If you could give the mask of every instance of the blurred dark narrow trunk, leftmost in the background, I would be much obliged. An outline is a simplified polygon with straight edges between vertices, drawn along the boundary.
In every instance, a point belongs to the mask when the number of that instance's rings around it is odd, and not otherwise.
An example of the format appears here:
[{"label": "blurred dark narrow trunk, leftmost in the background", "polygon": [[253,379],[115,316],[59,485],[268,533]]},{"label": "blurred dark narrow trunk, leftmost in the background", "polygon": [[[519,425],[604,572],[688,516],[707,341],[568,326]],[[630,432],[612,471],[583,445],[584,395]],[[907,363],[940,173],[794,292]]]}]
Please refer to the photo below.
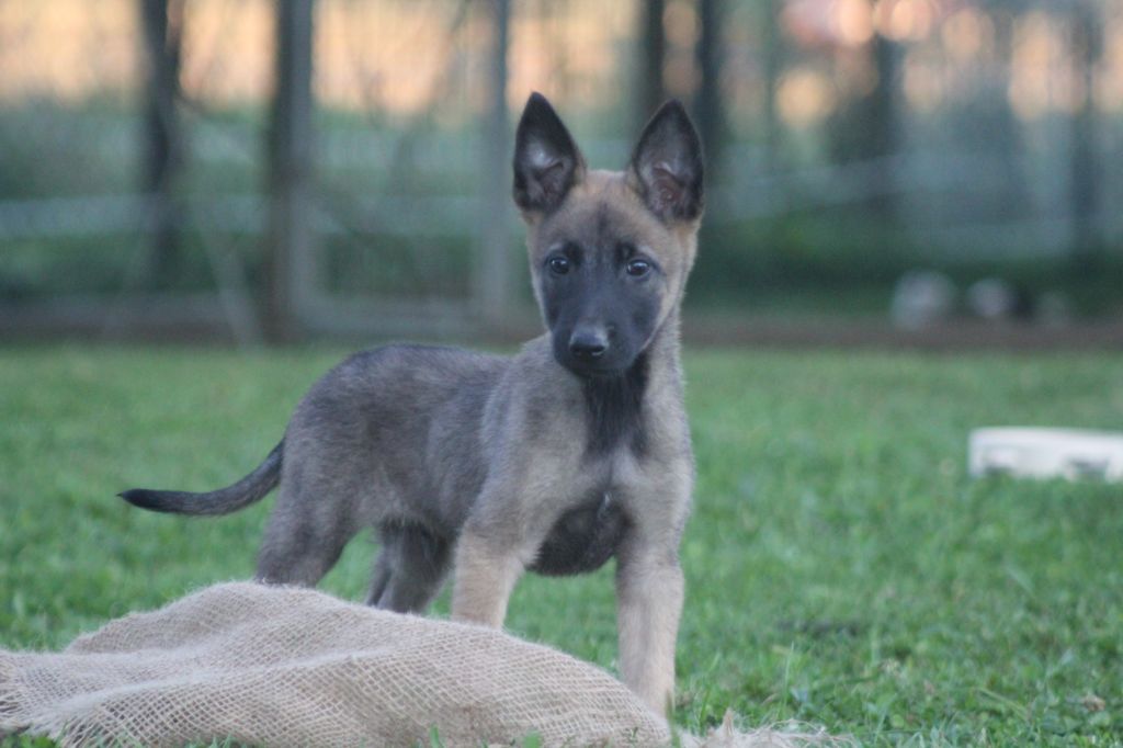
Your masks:
[{"label": "blurred dark narrow trunk, leftmost in the background", "polygon": [[179,270],[179,209],[175,182],[183,146],[175,102],[180,95],[183,6],[177,0],[140,0],[148,80],[145,102],[144,191],[149,199],[150,241],[145,279],[167,289]]}]

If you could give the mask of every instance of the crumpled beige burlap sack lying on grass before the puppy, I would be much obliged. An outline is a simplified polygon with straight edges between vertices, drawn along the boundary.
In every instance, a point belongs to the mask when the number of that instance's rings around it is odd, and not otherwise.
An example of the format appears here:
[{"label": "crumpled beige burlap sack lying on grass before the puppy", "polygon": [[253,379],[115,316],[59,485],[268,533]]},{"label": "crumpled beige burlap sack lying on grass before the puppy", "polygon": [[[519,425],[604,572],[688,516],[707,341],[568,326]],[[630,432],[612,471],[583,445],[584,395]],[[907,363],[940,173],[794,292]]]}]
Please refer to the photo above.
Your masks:
[{"label": "crumpled beige burlap sack lying on grass before the puppy", "polygon": [[[58,654],[0,653],[0,735],[63,745],[667,745],[606,673],[487,628],[221,584]],[[713,745],[789,745],[727,729]],[[688,736],[683,742],[694,742]]]}]

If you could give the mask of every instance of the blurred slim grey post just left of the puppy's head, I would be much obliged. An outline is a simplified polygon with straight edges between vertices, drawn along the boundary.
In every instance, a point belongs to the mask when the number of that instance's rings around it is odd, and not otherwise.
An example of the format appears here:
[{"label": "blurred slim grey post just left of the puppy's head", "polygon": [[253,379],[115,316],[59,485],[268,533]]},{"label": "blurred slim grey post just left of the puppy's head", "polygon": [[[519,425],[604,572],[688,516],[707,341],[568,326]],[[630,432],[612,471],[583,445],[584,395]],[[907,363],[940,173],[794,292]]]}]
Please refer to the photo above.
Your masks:
[{"label": "blurred slim grey post just left of the puppy's head", "polygon": [[506,110],[506,53],[511,36],[510,0],[491,0],[492,49],[487,79],[487,111],[481,133],[483,206],[477,236],[476,297],[484,321],[496,327],[508,312],[511,241],[504,217],[510,210],[510,122]]}]

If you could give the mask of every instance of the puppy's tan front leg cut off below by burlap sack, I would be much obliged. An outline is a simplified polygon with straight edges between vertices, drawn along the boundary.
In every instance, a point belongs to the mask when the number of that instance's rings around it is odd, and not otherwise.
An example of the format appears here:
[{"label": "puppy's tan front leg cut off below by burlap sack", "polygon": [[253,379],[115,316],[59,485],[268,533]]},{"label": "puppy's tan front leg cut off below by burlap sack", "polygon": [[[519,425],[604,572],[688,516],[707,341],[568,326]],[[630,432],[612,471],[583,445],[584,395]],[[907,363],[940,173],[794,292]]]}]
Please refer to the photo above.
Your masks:
[{"label": "puppy's tan front leg cut off below by burlap sack", "polygon": [[522,574],[518,550],[494,536],[465,528],[456,546],[453,618],[500,628],[506,602]]}]

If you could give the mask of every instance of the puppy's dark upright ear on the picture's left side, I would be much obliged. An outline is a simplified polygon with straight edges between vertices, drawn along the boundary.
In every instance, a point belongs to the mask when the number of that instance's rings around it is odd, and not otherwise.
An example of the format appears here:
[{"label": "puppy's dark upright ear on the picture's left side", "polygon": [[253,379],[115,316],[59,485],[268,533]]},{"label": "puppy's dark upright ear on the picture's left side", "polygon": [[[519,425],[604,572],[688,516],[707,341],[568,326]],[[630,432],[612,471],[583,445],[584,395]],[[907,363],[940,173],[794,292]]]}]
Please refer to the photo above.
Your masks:
[{"label": "puppy's dark upright ear on the picture's left side", "polygon": [[523,213],[548,213],[585,174],[585,159],[546,97],[527,101],[514,136],[514,202]]}]

